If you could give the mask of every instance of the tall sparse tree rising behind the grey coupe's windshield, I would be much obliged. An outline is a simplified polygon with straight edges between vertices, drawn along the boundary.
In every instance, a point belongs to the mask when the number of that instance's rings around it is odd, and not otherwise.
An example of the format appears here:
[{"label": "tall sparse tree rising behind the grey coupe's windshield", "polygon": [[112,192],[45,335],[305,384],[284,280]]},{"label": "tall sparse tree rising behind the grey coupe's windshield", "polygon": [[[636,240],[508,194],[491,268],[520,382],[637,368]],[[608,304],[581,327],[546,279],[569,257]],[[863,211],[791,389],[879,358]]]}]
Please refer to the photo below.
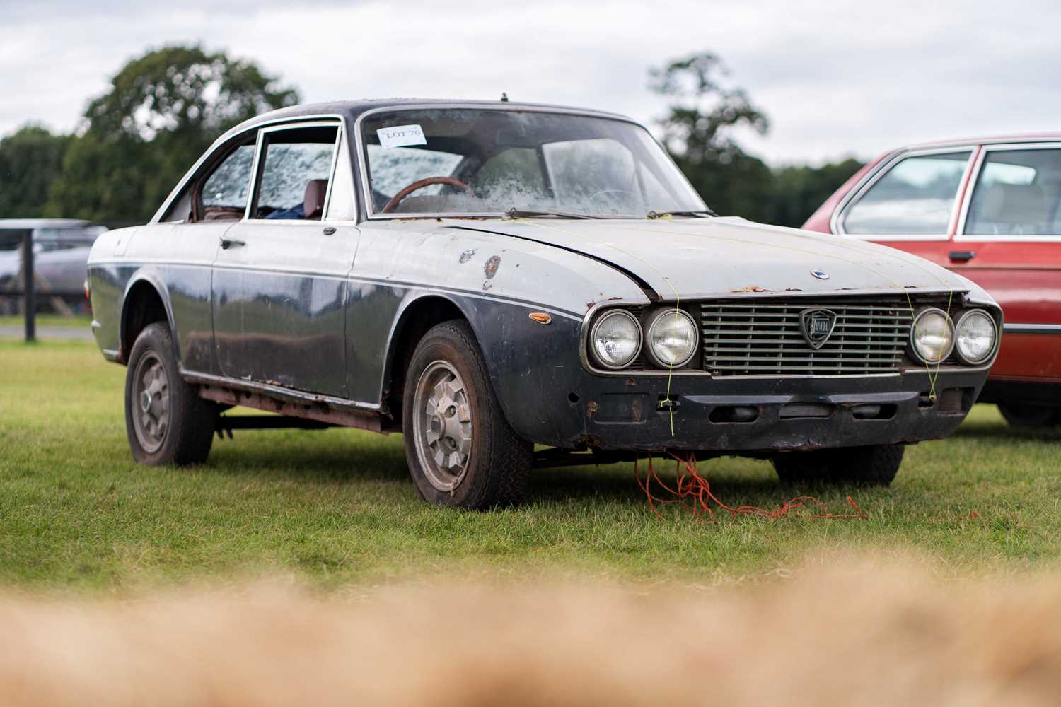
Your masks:
[{"label": "tall sparse tree rising behind the grey coupe's windshield", "polygon": [[744,90],[727,85],[725,65],[701,53],[649,71],[650,87],[671,105],[660,121],[663,144],[705,201],[720,214],[770,217],[770,169],[744,152],[736,128],[769,129]]}]

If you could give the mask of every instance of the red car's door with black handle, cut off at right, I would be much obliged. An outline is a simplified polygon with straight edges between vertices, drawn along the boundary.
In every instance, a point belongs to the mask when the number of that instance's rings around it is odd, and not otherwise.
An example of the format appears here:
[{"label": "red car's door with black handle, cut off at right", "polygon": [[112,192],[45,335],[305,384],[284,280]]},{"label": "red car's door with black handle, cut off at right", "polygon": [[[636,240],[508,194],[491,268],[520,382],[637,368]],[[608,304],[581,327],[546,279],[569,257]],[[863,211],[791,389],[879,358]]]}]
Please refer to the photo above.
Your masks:
[{"label": "red car's door with black handle, cut off at right", "polygon": [[984,145],[974,177],[950,266],[1003,307],[992,377],[1061,382],[1061,143]]}]

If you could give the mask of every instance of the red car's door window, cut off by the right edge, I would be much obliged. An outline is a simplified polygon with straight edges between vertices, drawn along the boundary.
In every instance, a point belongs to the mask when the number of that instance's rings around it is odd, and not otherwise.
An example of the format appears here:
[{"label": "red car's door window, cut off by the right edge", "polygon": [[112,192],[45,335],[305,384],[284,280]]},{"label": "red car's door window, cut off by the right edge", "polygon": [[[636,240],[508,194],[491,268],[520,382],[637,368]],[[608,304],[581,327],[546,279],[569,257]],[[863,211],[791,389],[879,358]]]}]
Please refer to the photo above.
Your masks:
[{"label": "red car's door window, cut off by the right edge", "polygon": [[992,149],[984,158],[967,234],[1061,235],[1061,149]]}]

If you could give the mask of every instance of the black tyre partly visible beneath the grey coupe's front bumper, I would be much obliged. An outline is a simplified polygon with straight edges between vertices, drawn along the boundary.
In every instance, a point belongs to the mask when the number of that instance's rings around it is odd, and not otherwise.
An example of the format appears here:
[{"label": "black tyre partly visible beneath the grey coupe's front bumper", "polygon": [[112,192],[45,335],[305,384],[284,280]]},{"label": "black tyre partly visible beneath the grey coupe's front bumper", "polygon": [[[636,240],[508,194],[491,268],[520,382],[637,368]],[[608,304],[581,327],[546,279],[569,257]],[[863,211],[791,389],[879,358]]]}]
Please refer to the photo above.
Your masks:
[{"label": "black tyre partly visible beneath the grey coupe's front bumper", "polygon": [[773,458],[783,483],[890,485],[903,463],[903,444],[790,452]]}]

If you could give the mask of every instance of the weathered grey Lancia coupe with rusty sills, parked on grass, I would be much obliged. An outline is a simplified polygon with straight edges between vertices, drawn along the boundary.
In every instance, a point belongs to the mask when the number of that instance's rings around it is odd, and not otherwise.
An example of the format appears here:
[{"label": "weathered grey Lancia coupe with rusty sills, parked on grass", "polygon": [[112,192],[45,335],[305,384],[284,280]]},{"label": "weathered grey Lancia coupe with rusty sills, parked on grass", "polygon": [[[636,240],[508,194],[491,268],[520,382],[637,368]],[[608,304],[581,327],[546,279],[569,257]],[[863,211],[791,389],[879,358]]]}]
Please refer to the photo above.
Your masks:
[{"label": "weathered grey Lancia coupe with rusty sills, parked on grass", "polygon": [[476,509],[536,465],[663,452],[887,484],[969,412],[1002,324],[914,255],[716,216],[627,118],[508,102],[247,121],[99,237],[89,287],[137,461],[403,431],[423,497]]}]

